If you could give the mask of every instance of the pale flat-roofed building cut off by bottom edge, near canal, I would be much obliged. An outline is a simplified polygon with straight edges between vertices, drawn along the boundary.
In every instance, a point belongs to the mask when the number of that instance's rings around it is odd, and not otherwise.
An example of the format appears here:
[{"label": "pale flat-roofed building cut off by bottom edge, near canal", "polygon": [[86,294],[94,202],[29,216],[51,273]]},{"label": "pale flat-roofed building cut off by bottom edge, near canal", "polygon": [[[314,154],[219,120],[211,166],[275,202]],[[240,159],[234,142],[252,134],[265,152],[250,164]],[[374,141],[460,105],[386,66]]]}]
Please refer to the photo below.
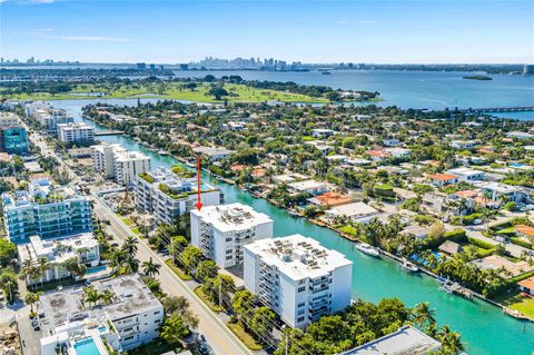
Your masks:
[{"label": "pale flat-roofed building cut off by bottom edge, near canal", "polygon": [[416,327],[405,325],[398,331],[378,339],[370,341],[339,355],[386,355],[386,354],[432,354],[442,348],[442,344]]}]

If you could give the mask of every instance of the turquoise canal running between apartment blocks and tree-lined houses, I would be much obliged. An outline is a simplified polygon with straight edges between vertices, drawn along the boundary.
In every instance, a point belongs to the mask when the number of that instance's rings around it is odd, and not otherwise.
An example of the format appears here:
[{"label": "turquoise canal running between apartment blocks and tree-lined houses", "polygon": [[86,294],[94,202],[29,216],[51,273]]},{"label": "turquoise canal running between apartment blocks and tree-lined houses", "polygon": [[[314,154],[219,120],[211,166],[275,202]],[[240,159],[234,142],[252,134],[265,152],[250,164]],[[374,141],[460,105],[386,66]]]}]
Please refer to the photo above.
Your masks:
[{"label": "turquoise canal running between apartment blocks and tree-lined houses", "polygon": [[[135,105],[137,100],[100,100],[115,105]],[[148,101],[148,100],[141,100]],[[53,106],[66,109],[81,118],[81,107],[92,100],[55,101]],[[95,126],[92,121],[85,120]],[[97,125],[97,129],[103,129]],[[139,150],[151,158],[152,169],[169,167],[177,162],[169,156],[160,156],[138,145],[125,136],[106,136],[99,139],[121,144],[128,150]],[[316,226],[304,218],[295,218],[286,210],[277,208],[264,199],[258,199],[238,188],[220,181],[214,181],[225,194],[227,203],[238,201],[269,215],[275,221],[275,235],[285,236],[299,233],[319,240],[327,248],[336,249],[354,262],[353,297],[369,302],[379,302],[384,297],[398,297],[413,306],[421,302],[429,302],[436,308],[438,324],[448,324],[462,333],[468,354],[475,355],[531,355],[534,352],[534,324],[521,322],[506,316],[497,307],[482,300],[467,300],[438,290],[439,284],[425,275],[412,275],[387,259],[375,259],[360,254],[353,243],[339,237],[335,231]]]}]

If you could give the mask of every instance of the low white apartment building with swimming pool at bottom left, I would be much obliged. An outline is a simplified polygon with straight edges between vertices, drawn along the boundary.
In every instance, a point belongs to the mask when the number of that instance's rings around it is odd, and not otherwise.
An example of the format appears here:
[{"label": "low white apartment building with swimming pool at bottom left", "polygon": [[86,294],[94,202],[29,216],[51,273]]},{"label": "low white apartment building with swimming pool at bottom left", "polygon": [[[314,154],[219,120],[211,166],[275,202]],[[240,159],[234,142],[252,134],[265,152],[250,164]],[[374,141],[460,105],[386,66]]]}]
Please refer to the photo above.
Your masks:
[{"label": "low white apartment building with swimming pool at bottom left", "polygon": [[121,353],[150,343],[159,336],[164,306],[139,275],[93,282],[91,286],[99,294],[111,292],[111,302],[99,305],[83,302],[81,286],[47,293],[40,297],[38,309],[43,355],[57,354],[55,349],[58,345],[73,351],[68,354],[80,354],[76,349],[89,345],[98,348],[99,354],[108,354],[107,351],[101,352],[103,341]]}]

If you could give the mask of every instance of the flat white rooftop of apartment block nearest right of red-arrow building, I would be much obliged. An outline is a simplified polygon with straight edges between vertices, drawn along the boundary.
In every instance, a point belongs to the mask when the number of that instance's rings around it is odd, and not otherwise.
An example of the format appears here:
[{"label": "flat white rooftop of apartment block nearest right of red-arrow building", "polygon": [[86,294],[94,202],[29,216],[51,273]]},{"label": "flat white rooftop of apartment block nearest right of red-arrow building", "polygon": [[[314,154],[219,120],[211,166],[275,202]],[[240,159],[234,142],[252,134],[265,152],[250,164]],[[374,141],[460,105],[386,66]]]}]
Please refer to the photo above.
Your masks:
[{"label": "flat white rooftop of apartment block nearest right of red-arrow building", "polygon": [[296,280],[322,277],[353,264],[339,252],[327,249],[319,241],[299,234],[257,240],[245,248]]}]

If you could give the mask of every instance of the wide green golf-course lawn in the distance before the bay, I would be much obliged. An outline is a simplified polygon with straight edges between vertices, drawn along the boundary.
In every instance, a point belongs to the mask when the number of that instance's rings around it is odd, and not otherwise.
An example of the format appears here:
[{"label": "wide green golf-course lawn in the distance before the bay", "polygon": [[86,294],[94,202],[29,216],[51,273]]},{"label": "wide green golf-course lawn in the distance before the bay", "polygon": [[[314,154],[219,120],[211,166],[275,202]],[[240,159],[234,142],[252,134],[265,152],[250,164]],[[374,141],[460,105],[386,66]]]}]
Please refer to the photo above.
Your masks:
[{"label": "wide green golf-course lawn in the distance before the bay", "polygon": [[[70,92],[61,92],[58,95],[50,95],[48,92],[34,92],[31,95],[21,93],[9,96],[12,99],[33,99],[33,100],[73,100],[73,99],[95,99],[95,98],[162,98],[177,99],[199,102],[221,102],[222,100],[215,100],[215,98],[207,92],[209,91],[208,83],[199,85],[195,90],[182,89],[179,82],[167,82],[165,88],[158,85],[142,85],[132,83],[129,86],[120,86],[110,89],[100,85],[79,85]],[[225,83],[224,88],[230,96],[226,97],[228,101],[233,102],[263,102],[263,101],[283,101],[283,102],[328,102],[324,98],[314,98],[307,95],[299,95],[286,91],[276,91],[267,89],[257,89],[239,83]],[[90,95],[91,92],[103,92],[102,96]],[[159,93],[161,92],[161,93]],[[1,91],[0,91],[1,95]]]}]

